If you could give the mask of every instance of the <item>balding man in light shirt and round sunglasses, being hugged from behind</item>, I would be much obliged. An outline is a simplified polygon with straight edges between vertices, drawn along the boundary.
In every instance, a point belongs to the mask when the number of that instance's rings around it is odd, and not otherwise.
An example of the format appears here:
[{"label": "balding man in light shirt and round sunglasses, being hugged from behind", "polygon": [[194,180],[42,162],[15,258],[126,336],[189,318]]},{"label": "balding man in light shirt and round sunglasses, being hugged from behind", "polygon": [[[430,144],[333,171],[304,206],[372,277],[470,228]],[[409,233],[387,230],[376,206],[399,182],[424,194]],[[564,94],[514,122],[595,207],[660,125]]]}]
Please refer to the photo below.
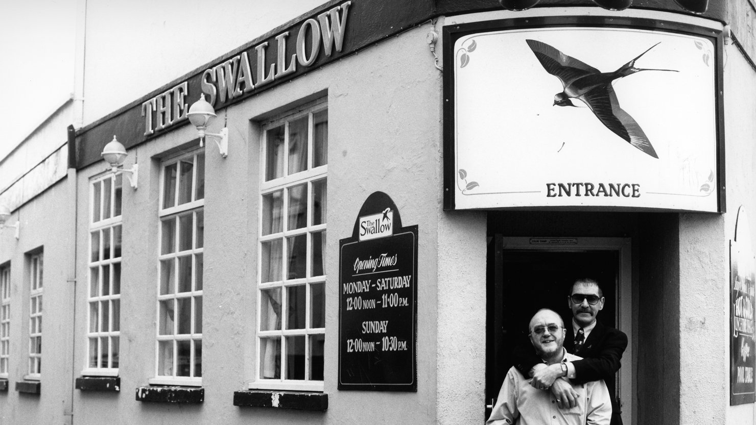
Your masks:
[{"label": "balding man in light shirt and round sunglasses, being hugged from behind", "polygon": [[[548,367],[560,368],[565,362],[580,360],[563,348],[567,331],[553,310],[538,310],[528,329],[535,352]],[[612,402],[603,380],[568,383],[575,397],[572,408],[557,407],[556,396],[532,387],[529,381],[516,368],[510,368],[486,425],[609,425]]]}]

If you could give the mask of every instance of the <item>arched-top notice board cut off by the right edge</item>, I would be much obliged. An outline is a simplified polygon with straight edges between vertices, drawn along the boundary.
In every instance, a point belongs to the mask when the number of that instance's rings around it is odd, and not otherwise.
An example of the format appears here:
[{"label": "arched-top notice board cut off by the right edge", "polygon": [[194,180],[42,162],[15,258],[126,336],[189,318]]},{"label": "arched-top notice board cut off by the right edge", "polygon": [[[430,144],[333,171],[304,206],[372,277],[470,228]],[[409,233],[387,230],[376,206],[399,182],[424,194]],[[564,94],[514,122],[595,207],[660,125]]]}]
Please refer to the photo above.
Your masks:
[{"label": "arched-top notice board cut off by the right edge", "polygon": [[736,239],[730,241],[730,405],[756,401],[756,258],[746,217],[741,206]]}]

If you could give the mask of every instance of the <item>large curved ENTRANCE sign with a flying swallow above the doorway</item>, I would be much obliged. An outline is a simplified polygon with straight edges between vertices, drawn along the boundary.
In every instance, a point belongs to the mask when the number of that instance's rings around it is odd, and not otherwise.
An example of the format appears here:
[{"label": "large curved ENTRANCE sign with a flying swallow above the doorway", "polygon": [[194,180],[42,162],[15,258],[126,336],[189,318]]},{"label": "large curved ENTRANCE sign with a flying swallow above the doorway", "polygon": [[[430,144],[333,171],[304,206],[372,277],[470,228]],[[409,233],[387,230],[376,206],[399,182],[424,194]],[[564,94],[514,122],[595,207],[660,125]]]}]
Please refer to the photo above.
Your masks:
[{"label": "large curved ENTRANCE sign with a flying swallow above the doorway", "polygon": [[712,30],[507,22],[445,29],[447,209],[723,211]]}]

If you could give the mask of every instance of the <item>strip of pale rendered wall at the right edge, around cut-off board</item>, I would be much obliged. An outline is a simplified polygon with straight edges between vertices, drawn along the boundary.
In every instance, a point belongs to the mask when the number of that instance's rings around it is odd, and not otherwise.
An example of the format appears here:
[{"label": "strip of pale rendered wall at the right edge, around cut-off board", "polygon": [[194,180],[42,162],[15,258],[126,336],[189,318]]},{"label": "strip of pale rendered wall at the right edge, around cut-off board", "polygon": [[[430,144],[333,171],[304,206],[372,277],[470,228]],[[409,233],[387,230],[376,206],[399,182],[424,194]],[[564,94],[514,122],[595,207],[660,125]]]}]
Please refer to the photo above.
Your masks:
[{"label": "strip of pale rendered wall at the right edge, around cut-off board", "polygon": [[[753,16],[751,12],[751,16]],[[750,34],[750,33],[749,33]],[[738,38],[741,35],[737,35]],[[727,46],[725,57],[725,137],[727,138],[727,214],[723,215],[723,236],[725,244],[721,249],[724,252],[725,279],[721,288],[723,306],[730,305],[730,255],[729,241],[735,237],[736,219],[740,205],[745,207],[748,220],[751,223],[751,243],[756,244],[756,186],[754,186],[754,173],[756,173],[756,147],[754,147],[754,134],[756,134],[756,122],[754,122],[754,110],[756,100],[756,72],[742,57],[736,46]],[[756,246],[751,245],[756,250]],[[725,308],[720,312],[726,321],[727,331],[730,327],[730,310]],[[730,339],[723,341],[723,380],[726,398],[722,404],[730,406]],[[756,405],[737,405],[726,408],[727,423],[732,425],[748,425],[756,423]]]}]

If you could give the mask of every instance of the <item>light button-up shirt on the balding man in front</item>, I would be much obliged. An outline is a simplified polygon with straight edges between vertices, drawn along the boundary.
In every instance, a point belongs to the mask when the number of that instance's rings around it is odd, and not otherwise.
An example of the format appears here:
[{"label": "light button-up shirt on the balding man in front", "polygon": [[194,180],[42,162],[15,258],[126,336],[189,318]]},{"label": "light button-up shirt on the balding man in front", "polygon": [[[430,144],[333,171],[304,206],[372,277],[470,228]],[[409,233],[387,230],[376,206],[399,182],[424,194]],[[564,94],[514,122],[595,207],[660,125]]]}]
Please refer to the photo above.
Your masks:
[{"label": "light button-up shirt on the balding man in front", "polygon": [[[562,351],[562,362],[581,359]],[[510,368],[486,425],[609,425],[612,420],[612,399],[603,380],[572,383],[572,389],[578,393],[578,404],[560,409],[551,391],[536,390],[530,385],[531,379]]]}]

